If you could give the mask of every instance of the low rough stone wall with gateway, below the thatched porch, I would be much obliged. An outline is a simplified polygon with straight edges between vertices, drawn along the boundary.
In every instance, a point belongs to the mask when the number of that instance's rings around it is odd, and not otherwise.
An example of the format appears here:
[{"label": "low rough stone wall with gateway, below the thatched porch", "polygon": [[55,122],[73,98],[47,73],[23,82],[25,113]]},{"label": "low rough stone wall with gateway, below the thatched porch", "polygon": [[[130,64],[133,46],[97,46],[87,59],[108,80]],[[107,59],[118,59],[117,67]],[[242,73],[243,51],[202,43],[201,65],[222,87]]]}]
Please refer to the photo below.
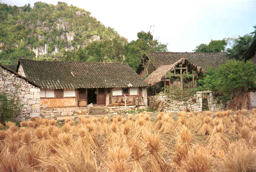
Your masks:
[{"label": "low rough stone wall with gateway, below the thatched porch", "polygon": [[[201,112],[205,109],[203,106],[203,100],[208,105],[208,110],[210,111],[218,111],[218,110],[225,110],[227,107],[227,102],[223,100],[217,100],[213,97],[212,92],[210,91],[202,91],[196,92],[193,95],[193,98],[190,98],[187,101],[180,101],[174,100],[169,95],[156,95],[156,96],[149,96],[149,106],[152,106],[155,101],[165,100],[166,103],[164,105],[165,112],[179,112],[179,111],[198,111]],[[206,101],[207,100],[207,101]]]}]

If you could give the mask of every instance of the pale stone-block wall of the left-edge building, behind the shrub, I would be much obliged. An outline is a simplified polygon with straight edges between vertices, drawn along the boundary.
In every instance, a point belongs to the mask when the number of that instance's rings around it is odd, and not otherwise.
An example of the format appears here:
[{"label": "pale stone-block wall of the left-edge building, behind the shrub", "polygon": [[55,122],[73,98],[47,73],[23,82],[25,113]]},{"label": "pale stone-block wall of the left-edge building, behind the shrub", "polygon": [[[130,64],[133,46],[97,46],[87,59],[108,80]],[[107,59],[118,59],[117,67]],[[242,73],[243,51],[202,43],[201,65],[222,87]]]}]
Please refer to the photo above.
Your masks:
[{"label": "pale stone-block wall of the left-edge building, behind the shrub", "polygon": [[40,112],[40,89],[29,83],[15,72],[10,72],[0,66],[0,90],[13,94],[17,92],[23,108],[18,115],[19,120],[39,117]]}]

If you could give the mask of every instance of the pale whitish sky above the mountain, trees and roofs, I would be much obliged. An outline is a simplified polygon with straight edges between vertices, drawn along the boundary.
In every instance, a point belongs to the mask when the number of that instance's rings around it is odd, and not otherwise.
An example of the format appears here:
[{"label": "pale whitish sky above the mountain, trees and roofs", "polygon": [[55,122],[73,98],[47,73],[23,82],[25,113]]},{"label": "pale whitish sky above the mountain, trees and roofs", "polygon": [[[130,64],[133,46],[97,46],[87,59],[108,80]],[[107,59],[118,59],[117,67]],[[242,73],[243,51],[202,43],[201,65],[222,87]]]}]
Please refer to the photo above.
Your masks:
[{"label": "pale whitish sky above the mountain, trees and roofs", "polygon": [[[38,0],[0,0],[32,6]],[[56,5],[62,0],[41,0]],[[170,52],[192,52],[197,45],[253,32],[256,0],[64,0],[90,11],[102,24],[128,41],[152,26],[154,37]],[[154,27],[153,27],[154,26]]]}]

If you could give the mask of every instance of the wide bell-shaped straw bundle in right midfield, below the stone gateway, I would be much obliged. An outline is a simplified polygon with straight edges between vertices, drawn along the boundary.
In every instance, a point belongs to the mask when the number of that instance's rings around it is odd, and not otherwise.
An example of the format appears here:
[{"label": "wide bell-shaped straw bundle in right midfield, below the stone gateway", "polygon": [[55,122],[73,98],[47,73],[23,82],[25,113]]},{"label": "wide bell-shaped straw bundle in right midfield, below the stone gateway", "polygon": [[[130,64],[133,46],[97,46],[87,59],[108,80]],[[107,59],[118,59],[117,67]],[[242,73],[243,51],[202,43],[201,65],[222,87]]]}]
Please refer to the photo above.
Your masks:
[{"label": "wide bell-shaped straw bundle in right midfield, below the stone gateway", "polygon": [[214,151],[227,150],[229,145],[228,138],[224,135],[224,127],[222,124],[219,124],[216,127],[216,132],[214,135],[211,135],[209,138],[208,148]]}]

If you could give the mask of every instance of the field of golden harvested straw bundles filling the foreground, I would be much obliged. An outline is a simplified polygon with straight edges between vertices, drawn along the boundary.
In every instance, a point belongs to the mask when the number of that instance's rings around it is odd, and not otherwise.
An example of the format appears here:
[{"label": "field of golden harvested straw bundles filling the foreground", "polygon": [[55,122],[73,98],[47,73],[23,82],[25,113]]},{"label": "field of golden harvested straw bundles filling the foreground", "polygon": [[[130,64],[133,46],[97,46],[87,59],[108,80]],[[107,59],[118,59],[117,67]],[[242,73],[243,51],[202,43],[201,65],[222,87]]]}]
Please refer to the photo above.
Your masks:
[{"label": "field of golden harvested straw bundles filling the foreground", "polygon": [[0,171],[255,171],[256,109],[33,118],[0,130]]}]

